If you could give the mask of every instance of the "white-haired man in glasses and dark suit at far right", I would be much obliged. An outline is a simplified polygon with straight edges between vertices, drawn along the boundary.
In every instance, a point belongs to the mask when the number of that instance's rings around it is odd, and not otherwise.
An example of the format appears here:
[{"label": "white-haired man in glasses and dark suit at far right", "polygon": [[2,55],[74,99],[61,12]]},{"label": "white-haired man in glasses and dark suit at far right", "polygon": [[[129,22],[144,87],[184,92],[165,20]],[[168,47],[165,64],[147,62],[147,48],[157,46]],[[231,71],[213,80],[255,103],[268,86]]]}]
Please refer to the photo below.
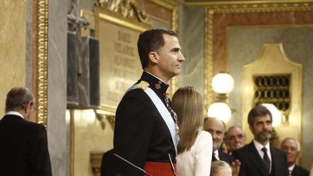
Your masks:
[{"label": "white-haired man in glasses and dark suit at far right", "polygon": [[288,170],[291,176],[309,176],[310,172],[308,170],[295,164],[300,154],[300,144],[296,139],[286,137],[281,141],[280,149],[287,154]]}]

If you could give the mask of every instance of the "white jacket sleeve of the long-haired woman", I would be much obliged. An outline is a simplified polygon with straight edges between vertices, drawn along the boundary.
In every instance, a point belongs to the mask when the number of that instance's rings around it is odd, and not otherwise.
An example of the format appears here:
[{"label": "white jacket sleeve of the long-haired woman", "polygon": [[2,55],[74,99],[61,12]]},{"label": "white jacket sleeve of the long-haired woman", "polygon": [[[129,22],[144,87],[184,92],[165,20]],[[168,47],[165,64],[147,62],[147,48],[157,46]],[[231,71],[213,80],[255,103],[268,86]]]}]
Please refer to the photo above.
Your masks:
[{"label": "white jacket sleeve of the long-haired woman", "polygon": [[203,132],[196,148],[194,176],[210,175],[212,150],[212,136],[209,132]]}]

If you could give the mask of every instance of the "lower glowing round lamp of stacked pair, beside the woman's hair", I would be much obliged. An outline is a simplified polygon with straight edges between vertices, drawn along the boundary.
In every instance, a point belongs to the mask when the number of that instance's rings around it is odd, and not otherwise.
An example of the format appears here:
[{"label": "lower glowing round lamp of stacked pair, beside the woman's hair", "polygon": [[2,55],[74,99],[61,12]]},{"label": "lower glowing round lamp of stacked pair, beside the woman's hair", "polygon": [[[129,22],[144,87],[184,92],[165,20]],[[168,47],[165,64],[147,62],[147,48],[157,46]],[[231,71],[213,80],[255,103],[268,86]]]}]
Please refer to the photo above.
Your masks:
[{"label": "lower glowing round lamp of stacked pair, beside the woman's hair", "polygon": [[216,117],[224,121],[224,123],[228,122],[231,116],[231,110],[226,103],[217,102],[213,103],[209,109],[207,110],[208,117]]}]

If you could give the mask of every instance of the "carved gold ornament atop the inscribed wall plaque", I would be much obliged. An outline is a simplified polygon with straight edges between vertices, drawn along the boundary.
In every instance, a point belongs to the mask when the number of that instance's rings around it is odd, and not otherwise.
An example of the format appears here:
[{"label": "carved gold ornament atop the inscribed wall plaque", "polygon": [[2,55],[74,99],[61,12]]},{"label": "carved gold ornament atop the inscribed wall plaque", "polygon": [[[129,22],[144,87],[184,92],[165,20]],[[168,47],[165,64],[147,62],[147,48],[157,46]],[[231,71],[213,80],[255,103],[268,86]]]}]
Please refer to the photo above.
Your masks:
[{"label": "carved gold ornament atop the inscribed wall plaque", "polygon": [[97,0],[94,5],[101,9],[109,10],[124,18],[150,25],[147,14],[138,9],[135,0]]}]

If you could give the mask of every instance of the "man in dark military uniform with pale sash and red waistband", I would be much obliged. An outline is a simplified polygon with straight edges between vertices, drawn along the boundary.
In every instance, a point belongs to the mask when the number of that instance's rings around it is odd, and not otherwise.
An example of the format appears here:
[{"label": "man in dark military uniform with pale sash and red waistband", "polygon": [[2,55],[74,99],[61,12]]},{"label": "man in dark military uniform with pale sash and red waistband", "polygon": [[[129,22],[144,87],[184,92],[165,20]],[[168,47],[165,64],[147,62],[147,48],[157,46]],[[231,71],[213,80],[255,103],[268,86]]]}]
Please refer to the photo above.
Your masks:
[{"label": "man in dark military uniform with pale sash and red waistband", "polygon": [[[137,46],[144,71],[117,107],[114,150],[153,176],[173,176],[170,163],[176,167],[179,129],[166,90],[168,81],[179,74],[180,63],[185,59],[172,30],[149,29],[140,34]],[[119,159],[116,173],[142,176]]]}]

